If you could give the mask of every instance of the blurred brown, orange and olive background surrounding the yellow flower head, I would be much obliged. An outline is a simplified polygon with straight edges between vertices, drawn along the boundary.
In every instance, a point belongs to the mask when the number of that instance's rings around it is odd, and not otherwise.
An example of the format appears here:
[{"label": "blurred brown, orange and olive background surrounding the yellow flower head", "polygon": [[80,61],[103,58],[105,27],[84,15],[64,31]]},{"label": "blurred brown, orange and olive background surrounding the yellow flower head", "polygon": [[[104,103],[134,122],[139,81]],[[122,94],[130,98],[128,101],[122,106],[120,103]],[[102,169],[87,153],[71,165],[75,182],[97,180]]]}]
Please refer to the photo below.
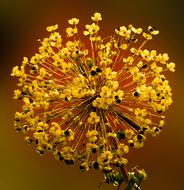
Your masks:
[{"label": "blurred brown, orange and olive background surrounding the yellow flower head", "polygon": [[[32,56],[37,39],[46,35],[45,27],[58,23],[64,33],[67,20],[90,21],[99,11],[103,16],[101,33],[111,34],[120,25],[146,28],[157,26],[160,35],[150,47],[167,52],[176,63],[168,74],[174,103],[167,113],[167,128],[159,137],[148,139],[141,150],[129,154],[129,167],[138,164],[148,174],[145,190],[181,190],[184,180],[184,10],[181,0],[0,0],[0,189],[2,190],[96,190],[103,179],[99,172],[80,172],[47,154],[40,157],[13,129],[12,100],[16,79],[10,77],[23,56]],[[104,184],[101,190],[115,189]]]}]

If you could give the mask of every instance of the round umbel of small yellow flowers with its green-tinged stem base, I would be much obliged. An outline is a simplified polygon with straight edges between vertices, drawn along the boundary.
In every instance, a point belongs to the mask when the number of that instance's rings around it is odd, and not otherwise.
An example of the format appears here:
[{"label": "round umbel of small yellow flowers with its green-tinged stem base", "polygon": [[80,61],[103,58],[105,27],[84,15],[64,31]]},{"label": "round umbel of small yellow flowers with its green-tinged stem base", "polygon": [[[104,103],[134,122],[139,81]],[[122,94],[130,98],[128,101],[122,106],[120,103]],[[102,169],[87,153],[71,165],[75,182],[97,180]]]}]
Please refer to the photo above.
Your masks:
[{"label": "round umbel of small yellow flowers with its green-tinged stem base", "polygon": [[47,27],[38,52],[13,68],[19,87],[14,99],[23,102],[14,126],[40,155],[50,151],[81,170],[102,171],[118,188],[125,182],[126,190],[138,189],[146,173],[127,172],[126,154],[162,130],[172,103],[163,73],[174,72],[175,64],[167,53],[144,48],[159,33],[154,27],[120,26],[103,38],[101,14],[91,19],[83,37],[79,19],[68,20],[65,43],[58,25]]}]

